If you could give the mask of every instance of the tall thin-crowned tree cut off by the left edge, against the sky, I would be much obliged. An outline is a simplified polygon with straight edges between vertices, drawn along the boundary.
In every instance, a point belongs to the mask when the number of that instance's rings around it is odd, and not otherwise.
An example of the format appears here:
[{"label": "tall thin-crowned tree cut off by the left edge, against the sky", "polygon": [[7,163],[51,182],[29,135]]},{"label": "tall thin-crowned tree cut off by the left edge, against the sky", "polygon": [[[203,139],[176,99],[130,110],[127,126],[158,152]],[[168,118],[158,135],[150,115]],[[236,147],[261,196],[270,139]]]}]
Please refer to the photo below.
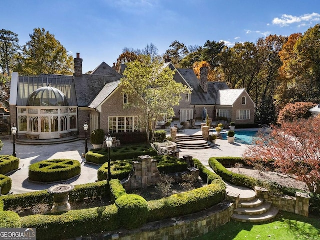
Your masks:
[{"label": "tall thin-crowned tree cut off by the left edge, against the sky", "polygon": [[0,68],[3,75],[6,72],[10,76],[14,56],[20,48],[18,42],[17,34],[5,29],[0,30]]}]

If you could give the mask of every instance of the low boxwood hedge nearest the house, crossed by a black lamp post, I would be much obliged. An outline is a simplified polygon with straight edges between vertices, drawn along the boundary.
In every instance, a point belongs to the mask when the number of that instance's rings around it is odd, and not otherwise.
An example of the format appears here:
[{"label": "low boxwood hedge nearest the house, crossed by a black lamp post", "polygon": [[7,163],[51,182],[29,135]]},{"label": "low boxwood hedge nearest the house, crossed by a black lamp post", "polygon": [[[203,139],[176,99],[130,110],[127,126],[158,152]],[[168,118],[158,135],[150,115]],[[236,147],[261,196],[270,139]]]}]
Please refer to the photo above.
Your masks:
[{"label": "low boxwood hedge nearest the house, crossed by a black lamp post", "polygon": [[[150,145],[133,145],[133,146],[123,146],[110,149],[110,160],[124,160],[137,158],[140,155],[157,155],[157,151],[153,149]],[[108,161],[108,149],[91,149],[85,155],[85,160],[87,162],[92,162],[98,165],[102,165]]]}]

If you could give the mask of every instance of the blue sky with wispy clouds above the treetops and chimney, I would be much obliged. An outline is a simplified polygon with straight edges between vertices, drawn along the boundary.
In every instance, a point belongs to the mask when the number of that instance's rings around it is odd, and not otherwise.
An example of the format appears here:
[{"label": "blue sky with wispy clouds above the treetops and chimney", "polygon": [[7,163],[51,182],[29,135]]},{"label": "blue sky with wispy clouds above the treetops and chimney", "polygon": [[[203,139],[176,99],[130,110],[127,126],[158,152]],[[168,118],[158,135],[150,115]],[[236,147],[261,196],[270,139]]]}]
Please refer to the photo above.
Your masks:
[{"label": "blue sky with wispy clouds above the treetops and chimney", "polygon": [[124,47],[153,43],[163,54],[174,40],[256,42],[269,34],[304,33],[320,23],[319,0],[5,0],[0,29],[30,40],[44,28],[83,58],[83,72],[110,66]]}]

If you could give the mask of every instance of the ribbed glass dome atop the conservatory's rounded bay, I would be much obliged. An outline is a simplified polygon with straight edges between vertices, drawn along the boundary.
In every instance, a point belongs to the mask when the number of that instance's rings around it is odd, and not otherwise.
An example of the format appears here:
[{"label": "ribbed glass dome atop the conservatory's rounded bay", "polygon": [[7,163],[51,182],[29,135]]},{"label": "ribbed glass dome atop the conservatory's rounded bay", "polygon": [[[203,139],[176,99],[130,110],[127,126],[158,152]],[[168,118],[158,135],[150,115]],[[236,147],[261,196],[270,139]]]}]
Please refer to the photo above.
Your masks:
[{"label": "ribbed glass dome atop the conservatory's rounded bay", "polygon": [[68,100],[62,91],[51,86],[43,86],[29,96],[27,106],[68,106]]}]

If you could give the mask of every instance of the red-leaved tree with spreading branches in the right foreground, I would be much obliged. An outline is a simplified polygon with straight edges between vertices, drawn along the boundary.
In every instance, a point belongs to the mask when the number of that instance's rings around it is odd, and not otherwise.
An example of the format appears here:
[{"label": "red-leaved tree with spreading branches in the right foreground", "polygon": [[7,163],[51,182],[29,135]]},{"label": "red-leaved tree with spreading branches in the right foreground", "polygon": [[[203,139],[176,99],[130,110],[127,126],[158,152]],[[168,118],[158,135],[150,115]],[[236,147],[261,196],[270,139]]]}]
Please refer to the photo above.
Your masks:
[{"label": "red-leaved tree with spreading branches in the right foreground", "polygon": [[[280,172],[306,183],[310,192],[320,193],[320,118],[285,122],[270,134],[259,134],[255,145],[244,152],[254,164],[273,164]],[[272,139],[272,140],[271,140]]]}]

